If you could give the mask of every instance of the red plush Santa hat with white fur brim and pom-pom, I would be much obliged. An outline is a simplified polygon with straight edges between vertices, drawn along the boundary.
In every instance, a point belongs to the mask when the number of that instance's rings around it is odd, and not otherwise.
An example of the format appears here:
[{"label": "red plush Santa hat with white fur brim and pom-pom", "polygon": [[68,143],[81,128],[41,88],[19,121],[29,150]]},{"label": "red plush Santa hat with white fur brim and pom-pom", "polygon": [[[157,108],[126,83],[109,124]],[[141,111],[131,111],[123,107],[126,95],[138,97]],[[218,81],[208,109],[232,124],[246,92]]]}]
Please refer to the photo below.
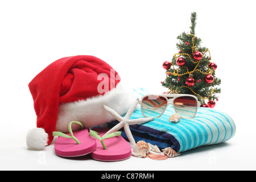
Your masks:
[{"label": "red plush Santa hat with white fur brim and pom-pom", "polygon": [[[103,105],[125,114],[131,102],[118,73],[94,56],[63,57],[48,65],[28,84],[37,115],[37,128],[28,131],[27,146],[40,150],[51,144],[53,131],[68,132],[68,123],[89,128],[110,122]],[[73,128],[74,127],[74,128]],[[78,130],[74,125],[72,129]]]}]

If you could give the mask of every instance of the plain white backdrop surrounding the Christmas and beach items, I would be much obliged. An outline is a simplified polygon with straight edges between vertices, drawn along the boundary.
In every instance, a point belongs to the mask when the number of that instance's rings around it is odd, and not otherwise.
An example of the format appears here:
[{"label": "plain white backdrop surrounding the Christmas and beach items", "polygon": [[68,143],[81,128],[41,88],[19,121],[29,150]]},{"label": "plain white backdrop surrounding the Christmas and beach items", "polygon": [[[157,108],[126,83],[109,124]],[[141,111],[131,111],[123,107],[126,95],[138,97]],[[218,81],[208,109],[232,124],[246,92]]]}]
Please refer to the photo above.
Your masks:
[{"label": "plain white backdrop surrounding the Christmas and beach items", "polygon": [[[15,170],[255,170],[255,5],[254,1],[0,1],[0,169]],[[94,55],[108,62],[127,85],[165,90],[162,63],[171,60],[176,37],[196,35],[218,65],[221,94],[216,109],[237,126],[228,142],[199,147],[177,158],[154,161],[131,156],[97,162],[64,159],[54,145],[26,147],[36,115],[28,83],[53,61]]]}]

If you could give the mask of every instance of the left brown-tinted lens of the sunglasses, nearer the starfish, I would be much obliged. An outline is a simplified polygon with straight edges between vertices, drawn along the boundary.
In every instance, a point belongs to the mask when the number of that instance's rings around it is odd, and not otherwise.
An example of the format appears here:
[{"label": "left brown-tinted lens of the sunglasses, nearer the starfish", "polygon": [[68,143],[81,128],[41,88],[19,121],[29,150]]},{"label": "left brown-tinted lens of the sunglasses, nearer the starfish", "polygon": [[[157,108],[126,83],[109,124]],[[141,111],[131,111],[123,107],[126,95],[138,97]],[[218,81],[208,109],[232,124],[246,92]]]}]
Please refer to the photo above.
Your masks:
[{"label": "left brown-tinted lens of the sunglasses, nearer the starfish", "polygon": [[146,96],[142,100],[142,112],[146,117],[159,117],[166,109],[167,100],[161,96]]}]

